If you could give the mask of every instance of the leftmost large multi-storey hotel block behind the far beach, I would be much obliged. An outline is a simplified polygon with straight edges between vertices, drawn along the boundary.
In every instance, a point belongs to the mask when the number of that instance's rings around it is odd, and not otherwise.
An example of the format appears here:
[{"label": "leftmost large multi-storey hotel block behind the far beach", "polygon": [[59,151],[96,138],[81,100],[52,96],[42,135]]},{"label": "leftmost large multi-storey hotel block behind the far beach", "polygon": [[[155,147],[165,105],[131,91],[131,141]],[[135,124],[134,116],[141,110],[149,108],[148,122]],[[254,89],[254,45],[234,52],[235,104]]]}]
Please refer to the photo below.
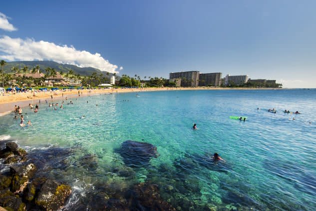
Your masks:
[{"label": "leftmost large multi-storey hotel block behind the far beach", "polygon": [[181,86],[199,86],[200,72],[193,71],[182,71],[182,72],[170,72],[169,79],[181,79]]}]

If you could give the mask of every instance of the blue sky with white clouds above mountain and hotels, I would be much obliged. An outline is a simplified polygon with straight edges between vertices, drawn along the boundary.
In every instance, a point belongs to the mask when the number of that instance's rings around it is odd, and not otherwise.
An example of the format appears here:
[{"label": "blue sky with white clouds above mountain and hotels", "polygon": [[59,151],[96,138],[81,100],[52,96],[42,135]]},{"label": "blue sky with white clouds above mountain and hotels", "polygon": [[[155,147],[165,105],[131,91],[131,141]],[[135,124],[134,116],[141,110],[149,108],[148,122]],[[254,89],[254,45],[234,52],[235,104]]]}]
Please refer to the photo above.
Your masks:
[{"label": "blue sky with white clouds above mountain and hotels", "polygon": [[315,0],[14,0],[0,59],[169,77],[199,70],[316,87]]}]

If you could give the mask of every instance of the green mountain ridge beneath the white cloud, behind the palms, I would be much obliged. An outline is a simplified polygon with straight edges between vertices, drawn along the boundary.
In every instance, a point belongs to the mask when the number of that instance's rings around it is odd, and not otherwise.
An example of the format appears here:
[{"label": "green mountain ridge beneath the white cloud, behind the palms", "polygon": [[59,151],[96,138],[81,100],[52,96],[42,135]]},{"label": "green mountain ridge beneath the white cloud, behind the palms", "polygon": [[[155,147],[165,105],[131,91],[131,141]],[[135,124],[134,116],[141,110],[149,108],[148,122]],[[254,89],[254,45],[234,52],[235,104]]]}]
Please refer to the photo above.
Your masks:
[{"label": "green mountain ridge beneath the white cloud, behind the palms", "polygon": [[[28,69],[32,69],[36,65],[40,66],[40,70],[42,72],[45,72],[45,69],[47,67],[51,67],[51,68],[54,68],[58,72],[60,71],[68,72],[70,69],[72,69],[74,72],[79,73],[82,76],[91,75],[93,72],[96,72],[98,74],[102,73],[103,75],[106,75],[107,73],[107,71],[101,71],[93,67],[79,67],[72,64],[57,63],[55,61],[11,61],[11,62],[7,62],[6,65],[3,66],[3,70],[4,72],[10,72],[13,66],[17,66],[18,68],[27,66]],[[112,76],[112,75],[113,73],[109,72],[108,76]]]}]

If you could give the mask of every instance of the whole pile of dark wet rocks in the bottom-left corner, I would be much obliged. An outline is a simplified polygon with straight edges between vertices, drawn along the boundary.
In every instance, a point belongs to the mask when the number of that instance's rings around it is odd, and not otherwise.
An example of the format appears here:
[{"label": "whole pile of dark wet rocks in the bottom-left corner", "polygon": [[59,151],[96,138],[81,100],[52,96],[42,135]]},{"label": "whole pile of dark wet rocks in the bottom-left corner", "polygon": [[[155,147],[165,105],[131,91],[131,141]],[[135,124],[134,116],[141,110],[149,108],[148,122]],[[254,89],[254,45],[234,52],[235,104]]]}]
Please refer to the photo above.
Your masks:
[{"label": "whole pile of dark wet rocks in the bottom-left corner", "polygon": [[0,174],[0,208],[8,211],[60,209],[71,194],[71,187],[44,177],[34,178],[35,164],[31,160],[24,163],[26,151],[15,142],[6,142],[5,148],[2,143],[1,148],[4,164],[19,163]]}]

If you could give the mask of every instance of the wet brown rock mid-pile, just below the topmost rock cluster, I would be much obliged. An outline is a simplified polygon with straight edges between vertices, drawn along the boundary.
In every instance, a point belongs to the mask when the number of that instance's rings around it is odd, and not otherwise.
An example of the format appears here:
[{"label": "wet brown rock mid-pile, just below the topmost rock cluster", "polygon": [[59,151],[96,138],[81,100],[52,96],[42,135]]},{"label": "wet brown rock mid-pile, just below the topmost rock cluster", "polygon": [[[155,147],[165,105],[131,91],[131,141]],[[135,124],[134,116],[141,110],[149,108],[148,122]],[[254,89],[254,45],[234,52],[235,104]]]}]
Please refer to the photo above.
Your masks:
[{"label": "wet brown rock mid-pile, just below the topmost rock cluster", "polygon": [[22,192],[29,179],[33,177],[35,171],[36,167],[33,163],[25,166],[10,166],[10,172],[12,173],[12,191],[16,193]]}]

